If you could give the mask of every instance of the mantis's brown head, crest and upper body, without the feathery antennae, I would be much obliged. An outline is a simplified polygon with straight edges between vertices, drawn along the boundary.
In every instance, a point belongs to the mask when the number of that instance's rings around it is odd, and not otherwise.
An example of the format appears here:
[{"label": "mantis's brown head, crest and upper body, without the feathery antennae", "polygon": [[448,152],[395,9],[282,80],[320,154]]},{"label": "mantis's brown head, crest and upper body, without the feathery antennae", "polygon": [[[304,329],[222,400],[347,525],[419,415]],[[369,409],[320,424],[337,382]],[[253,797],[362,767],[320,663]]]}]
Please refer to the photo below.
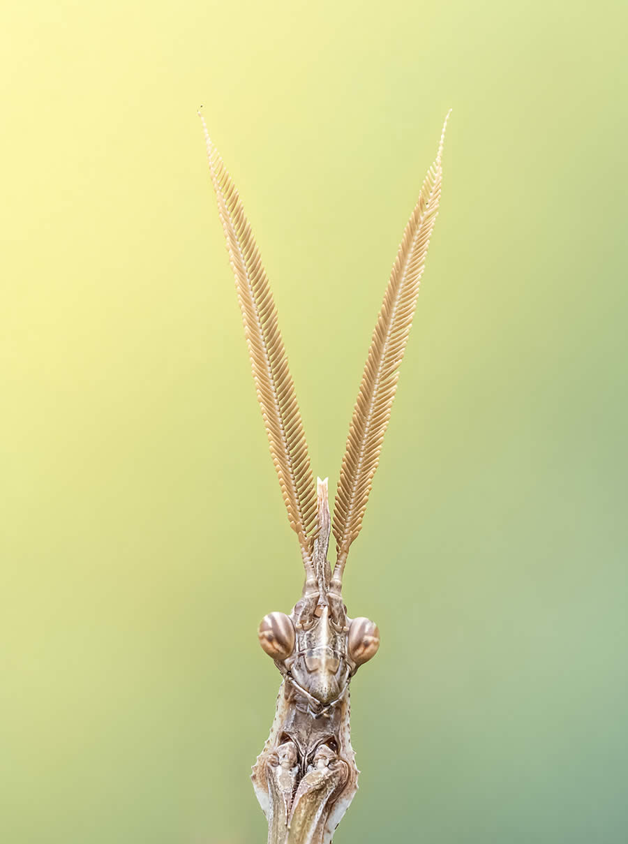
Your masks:
[{"label": "mantis's brown head, crest and upper body, without the feathery antennae", "polygon": [[271,613],[259,640],[284,677],[268,741],[253,768],[268,841],[330,841],[357,788],[349,736],[349,680],[375,656],[379,630],[349,619],[327,560],[327,479],[318,479],[314,577],[290,615]]}]

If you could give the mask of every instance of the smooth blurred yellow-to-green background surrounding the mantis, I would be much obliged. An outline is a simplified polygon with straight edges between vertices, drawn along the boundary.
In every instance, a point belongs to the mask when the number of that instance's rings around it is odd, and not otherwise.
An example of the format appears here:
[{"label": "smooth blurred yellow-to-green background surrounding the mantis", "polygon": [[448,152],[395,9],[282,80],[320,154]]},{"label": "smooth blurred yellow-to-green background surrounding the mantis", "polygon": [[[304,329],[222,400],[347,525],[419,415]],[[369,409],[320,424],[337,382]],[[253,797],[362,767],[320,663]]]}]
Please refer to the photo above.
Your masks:
[{"label": "smooth blurred yellow-to-green background surrounding the mantis", "polygon": [[453,108],[347,568],[382,648],[336,841],[628,840],[626,24],[605,0],[5,8],[3,841],[266,839],[256,628],[300,558],[201,103],[332,489]]}]

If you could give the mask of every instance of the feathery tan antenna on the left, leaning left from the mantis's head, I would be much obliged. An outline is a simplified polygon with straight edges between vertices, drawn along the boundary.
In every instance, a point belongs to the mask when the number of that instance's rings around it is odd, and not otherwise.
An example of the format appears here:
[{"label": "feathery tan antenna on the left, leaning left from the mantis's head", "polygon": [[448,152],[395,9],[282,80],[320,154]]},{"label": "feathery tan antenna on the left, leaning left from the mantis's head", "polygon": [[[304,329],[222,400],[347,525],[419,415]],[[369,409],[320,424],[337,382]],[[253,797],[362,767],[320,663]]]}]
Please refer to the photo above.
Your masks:
[{"label": "feathery tan antenna on the left, leaning left from the mantis's head", "polygon": [[279,475],[290,526],[299,538],[306,577],[314,576],[312,542],[317,523],[314,485],[295,387],[279,333],[277,310],[262,259],[239,194],[209,138],[203,115],[209,172],[218,200],[231,268],[242,311],[246,343],[274,467]]}]

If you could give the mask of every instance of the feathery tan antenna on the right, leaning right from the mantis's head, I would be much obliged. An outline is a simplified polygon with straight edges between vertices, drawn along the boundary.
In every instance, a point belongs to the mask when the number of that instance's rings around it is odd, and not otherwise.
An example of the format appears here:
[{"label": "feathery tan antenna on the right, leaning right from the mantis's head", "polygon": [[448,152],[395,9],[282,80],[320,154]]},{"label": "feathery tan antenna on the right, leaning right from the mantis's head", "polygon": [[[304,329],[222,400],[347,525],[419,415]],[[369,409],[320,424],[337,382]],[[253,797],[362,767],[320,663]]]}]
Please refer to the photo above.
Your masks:
[{"label": "feathery tan antenna on the right, leaning right from the mantis's head", "polygon": [[349,426],[333,510],[333,536],[338,553],[331,584],[334,592],[340,592],[342,588],[349,546],[362,527],[366,501],[390,419],[398,367],[412,326],[425,256],[441,197],[442,146],[450,114],[451,111],[447,113],[442,127],[436,161],[427,171],[419,202],[403,232]]}]

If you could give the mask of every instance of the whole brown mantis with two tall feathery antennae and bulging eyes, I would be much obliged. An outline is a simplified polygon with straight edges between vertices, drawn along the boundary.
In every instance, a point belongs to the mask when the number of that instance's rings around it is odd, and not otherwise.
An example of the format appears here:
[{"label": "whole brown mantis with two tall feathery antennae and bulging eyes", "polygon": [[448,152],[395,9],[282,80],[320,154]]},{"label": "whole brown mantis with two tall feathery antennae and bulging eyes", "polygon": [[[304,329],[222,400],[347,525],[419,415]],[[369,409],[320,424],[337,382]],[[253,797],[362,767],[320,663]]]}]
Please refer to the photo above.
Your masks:
[{"label": "whole brown mantis with two tall feathery antennae and bulging eyes", "polygon": [[327,479],[314,484],[295,387],[277,311],[240,197],[203,122],[209,172],[218,201],[244,321],[257,399],[273,464],[300,545],[305,583],[290,611],[262,619],[263,650],[282,675],[273,726],[253,766],[252,782],[268,820],[268,844],[329,844],[357,790],[349,734],[349,683],[375,656],[379,630],[350,618],[343,602],[344,566],[360,533],[397,389],[398,367],[414,317],[425,257],[441,197],[441,157],[420,189],[377,317],[349,426],[333,511]]}]

